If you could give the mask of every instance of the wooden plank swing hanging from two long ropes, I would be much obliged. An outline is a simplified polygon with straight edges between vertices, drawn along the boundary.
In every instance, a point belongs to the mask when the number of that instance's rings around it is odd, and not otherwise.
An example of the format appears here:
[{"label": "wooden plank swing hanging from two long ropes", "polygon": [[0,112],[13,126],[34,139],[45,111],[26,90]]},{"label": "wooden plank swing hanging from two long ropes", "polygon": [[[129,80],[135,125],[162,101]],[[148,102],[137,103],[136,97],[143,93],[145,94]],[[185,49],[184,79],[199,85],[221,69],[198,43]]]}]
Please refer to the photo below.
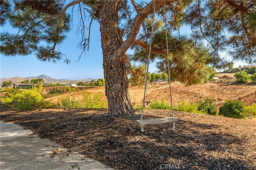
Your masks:
[{"label": "wooden plank swing hanging from two long ropes", "polygon": [[169,91],[170,91],[170,103],[171,103],[171,110],[172,110],[172,117],[164,117],[164,118],[156,118],[156,119],[142,119],[143,118],[143,111],[145,105],[145,96],[146,96],[146,89],[148,87],[148,66],[150,61],[150,54],[151,54],[151,46],[152,46],[152,37],[154,31],[154,16],[156,12],[156,2],[154,4],[154,13],[153,13],[153,21],[152,21],[152,31],[150,36],[150,46],[149,46],[149,53],[148,59],[146,60],[146,79],[145,79],[145,88],[144,88],[144,97],[143,97],[143,107],[140,120],[136,120],[136,122],[141,125],[141,131],[144,132],[143,126],[144,125],[153,125],[153,124],[160,124],[160,123],[171,123],[172,122],[172,130],[175,128],[175,122],[178,122],[178,119],[173,117],[173,109],[172,109],[172,91],[171,91],[171,79],[170,79],[170,62],[169,62],[169,53],[168,53],[168,38],[167,38],[167,24],[166,24],[166,11],[165,11],[165,2],[164,2],[164,22],[165,22],[165,34],[166,34],[166,54],[167,54],[167,61],[168,61],[168,77],[169,77]]}]

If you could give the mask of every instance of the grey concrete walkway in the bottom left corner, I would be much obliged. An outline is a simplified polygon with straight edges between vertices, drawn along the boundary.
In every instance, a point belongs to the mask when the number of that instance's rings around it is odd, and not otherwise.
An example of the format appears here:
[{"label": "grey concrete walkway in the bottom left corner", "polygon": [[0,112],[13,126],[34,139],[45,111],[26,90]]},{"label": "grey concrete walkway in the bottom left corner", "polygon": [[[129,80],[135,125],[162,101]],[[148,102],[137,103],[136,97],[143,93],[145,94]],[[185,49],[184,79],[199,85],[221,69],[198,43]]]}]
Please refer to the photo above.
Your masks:
[{"label": "grey concrete walkway in the bottom left corner", "polygon": [[78,152],[34,135],[30,130],[0,122],[1,170],[114,170]]}]

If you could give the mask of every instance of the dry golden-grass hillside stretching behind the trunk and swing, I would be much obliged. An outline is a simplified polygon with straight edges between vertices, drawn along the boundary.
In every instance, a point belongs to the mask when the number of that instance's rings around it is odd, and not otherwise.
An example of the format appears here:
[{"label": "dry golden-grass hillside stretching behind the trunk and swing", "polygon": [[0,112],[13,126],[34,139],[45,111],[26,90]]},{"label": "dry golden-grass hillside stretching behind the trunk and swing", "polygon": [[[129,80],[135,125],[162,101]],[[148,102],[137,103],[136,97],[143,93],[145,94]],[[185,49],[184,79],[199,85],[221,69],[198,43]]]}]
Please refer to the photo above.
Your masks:
[{"label": "dry golden-grass hillside stretching behind the trunk and swing", "polygon": [[[49,87],[48,87],[49,88]],[[78,87],[76,87],[78,88]],[[199,100],[211,97],[218,105],[222,105],[225,101],[230,99],[242,99],[246,105],[256,103],[256,83],[236,83],[236,82],[208,82],[201,85],[185,86],[179,82],[171,83],[172,101],[178,103],[187,101],[195,103]],[[105,87],[94,87],[86,89],[90,94],[98,93],[102,99],[106,99]],[[46,94],[46,89],[43,91]],[[65,93],[60,96],[46,98],[52,103],[57,103],[62,97],[74,96],[76,99],[82,101],[83,91],[76,91],[72,93]],[[144,86],[129,87],[129,94],[132,103],[142,105]],[[165,99],[170,101],[169,84],[168,82],[152,82],[148,84],[148,101],[160,101]]]}]

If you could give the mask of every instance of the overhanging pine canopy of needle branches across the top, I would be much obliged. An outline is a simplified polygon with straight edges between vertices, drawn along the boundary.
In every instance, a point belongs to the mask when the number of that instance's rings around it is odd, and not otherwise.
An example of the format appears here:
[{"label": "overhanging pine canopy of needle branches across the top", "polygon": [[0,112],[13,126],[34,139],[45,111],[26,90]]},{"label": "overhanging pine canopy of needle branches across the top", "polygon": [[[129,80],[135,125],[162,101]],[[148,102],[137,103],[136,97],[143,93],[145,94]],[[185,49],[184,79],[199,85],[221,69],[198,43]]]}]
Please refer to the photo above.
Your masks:
[{"label": "overhanging pine canopy of needle branches across the top", "polygon": [[[150,6],[142,1],[131,2],[132,6],[126,1],[120,1],[118,5],[118,27],[123,37],[131,33],[130,28],[134,23],[132,13],[138,13]],[[75,5],[77,8],[74,8]],[[164,15],[160,5],[163,5],[162,2],[156,2],[158,22],[155,22],[154,27],[163,24],[159,21],[160,16]],[[68,58],[62,54],[58,46],[65,40],[65,35],[72,26],[73,15],[66,12],[69,7],[74,8],[74,12],[80,13],[81,16],[78,25],[81,41],[78,46],[82,50],[88,49],[90,31],[86,37],[85,23],[88,18],[86,10],[92,17],[90,24],[93,19],[100,21],[102,1],[76,0],[67,3],[61,0],[14,0],[13,2],[2,0],[1,26],[9,21],[11,26],[19,31],[17,34],[4,32],[1,35],[1,53],[7,56],[35,53],[42,61],[56,61],[64,57],[68,63]],[[210,53],[214,56],[216,65],[224,64],[225,60],[220,57],[219,53],[225,51],[233,59],[256,63],[255,1],[169,0],[166,1],[166,9],[170,32],[180,35],[181,32],[177,33],[177,31],[182,25],[190,27],[191,36],[196,45],[200,45],[202,41],[210,45]],[[140,21],[144,31],[138,34],[139,40],[142,40],[142,35],[144,40],[148,39],[150,34],[150,25],[147,21],[149,18],[145,16],[144,18]],[[144,40],[134,43],[145,47]]]}]

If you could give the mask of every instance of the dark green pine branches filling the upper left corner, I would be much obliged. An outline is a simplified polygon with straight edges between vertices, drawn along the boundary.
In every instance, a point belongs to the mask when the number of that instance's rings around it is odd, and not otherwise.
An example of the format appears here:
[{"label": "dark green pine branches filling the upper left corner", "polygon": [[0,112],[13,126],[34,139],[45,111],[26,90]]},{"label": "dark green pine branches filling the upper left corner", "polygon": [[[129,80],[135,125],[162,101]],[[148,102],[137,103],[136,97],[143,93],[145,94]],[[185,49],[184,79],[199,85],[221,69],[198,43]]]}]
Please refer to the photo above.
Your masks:
[{"label": "dark green pine branches filling the upper left corner", "polygon": [[65,57],[55,50],[55,45],[61,43],[70,30],[68,14],[64,14],[61,21],[60,17],[56,17],[60,16],[64,3],[56,0],[17,1],[8,11],[6,19],[18,33],[1,33],[1,53],[9,56],[34,53],[42,61]]}]

